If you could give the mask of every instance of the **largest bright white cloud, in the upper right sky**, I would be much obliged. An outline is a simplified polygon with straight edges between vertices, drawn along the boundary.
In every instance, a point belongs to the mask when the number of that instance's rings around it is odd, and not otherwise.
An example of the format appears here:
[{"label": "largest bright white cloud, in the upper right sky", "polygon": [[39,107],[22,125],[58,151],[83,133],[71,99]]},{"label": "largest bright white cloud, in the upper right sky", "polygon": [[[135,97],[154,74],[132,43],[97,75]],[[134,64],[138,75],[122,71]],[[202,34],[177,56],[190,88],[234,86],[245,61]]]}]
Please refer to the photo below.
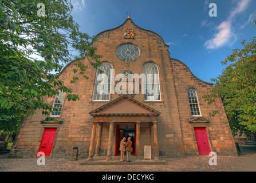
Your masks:
[{"label": "largest bright white cloud, in the upper right sky", "polygon": [[[241,0],[237,3],[234,9],[230,11],[226,21],[223,21],[216,27],[218,33],[215,33],[213,38],[204,43],[204,46],[206,46],[207,49],[217,49],[223,45],[234,43],[237,39],[237,35],[233,32],[232,21],[236,15],[247,9],[250,1],[251,0]],[[207,21],[204,21],[202,22],[202,25],[204,26],[206,23]]]}]

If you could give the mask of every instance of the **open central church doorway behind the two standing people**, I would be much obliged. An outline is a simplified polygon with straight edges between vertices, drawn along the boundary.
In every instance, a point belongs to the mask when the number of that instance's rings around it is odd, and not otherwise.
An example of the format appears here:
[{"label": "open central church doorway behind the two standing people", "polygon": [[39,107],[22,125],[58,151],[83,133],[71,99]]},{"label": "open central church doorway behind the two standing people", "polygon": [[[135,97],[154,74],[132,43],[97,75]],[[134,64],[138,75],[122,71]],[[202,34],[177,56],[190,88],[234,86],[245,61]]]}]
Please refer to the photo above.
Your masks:
[{"label": "open central church doorway behind the two standing people", "polygon": [[120,142],[123,138],[131,137],[133,152],[131,155],[136,156],[136,126],[135,125],[116,125],[116,153],[115,156],[120,156]]}]

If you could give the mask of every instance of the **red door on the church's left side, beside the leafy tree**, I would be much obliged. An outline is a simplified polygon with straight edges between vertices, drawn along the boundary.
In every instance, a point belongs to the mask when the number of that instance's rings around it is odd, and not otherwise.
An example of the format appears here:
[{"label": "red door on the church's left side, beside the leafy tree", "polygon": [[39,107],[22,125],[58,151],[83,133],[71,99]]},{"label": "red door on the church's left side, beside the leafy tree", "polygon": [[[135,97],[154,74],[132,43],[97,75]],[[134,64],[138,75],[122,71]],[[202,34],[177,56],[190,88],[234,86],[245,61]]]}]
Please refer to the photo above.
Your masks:
[{"label": "red door on the church's left side, beside the leafy tree", "polygon": [[39,148],[39,152],[44,152],[45,156],[50,156],[53,148],[57,128],[45,128],[44,136]]}]

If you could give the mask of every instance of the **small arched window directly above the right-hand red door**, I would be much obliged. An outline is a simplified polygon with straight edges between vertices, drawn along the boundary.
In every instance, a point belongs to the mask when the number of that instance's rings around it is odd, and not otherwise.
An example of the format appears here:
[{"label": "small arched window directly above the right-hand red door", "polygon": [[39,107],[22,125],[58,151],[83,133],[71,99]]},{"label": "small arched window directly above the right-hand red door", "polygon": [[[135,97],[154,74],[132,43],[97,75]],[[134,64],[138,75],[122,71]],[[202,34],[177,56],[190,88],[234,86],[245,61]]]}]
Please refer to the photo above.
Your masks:
[{"label": "small arched window directly above the right-hand red door", "polygon": [[187,90],[187,94],[188,94],[188,101],[190,102],[190,111],[192,116],[201,116],[198,97],[196,96],[195,90],[190,88]]}]

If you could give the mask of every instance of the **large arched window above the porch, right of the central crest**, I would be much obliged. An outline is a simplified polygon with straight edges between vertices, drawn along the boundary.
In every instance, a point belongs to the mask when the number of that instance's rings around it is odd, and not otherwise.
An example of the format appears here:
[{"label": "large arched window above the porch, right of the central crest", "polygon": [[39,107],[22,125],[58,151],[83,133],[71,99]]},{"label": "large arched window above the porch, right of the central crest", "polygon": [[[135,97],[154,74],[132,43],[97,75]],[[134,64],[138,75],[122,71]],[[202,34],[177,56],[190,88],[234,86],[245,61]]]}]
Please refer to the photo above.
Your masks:
[{"label": "large arched window above the porch, right of the central crest", "polygon": [[144,100],[160,101],[159,75],[155,63],[145,63],[143,73]]}]

